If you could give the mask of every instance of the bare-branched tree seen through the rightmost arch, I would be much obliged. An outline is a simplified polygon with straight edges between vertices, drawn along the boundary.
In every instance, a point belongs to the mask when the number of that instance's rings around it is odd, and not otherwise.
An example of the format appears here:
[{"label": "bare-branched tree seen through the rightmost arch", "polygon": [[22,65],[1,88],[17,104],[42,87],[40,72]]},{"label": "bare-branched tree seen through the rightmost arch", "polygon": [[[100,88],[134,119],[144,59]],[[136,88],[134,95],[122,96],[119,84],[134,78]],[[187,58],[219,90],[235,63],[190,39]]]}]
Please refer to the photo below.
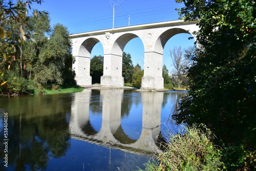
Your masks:
[{"label": "bare-branched tree seen through the rightmost arch", "polygon": [[172,58],[173,66],[175,68],[174,74],[177,76],[175,81],[178,88],[186,80],[186,68],[188,67],[188,60],[184,57],[184,50],[181,47],[174,47],[173,50],[169,50],[170,57]]}]

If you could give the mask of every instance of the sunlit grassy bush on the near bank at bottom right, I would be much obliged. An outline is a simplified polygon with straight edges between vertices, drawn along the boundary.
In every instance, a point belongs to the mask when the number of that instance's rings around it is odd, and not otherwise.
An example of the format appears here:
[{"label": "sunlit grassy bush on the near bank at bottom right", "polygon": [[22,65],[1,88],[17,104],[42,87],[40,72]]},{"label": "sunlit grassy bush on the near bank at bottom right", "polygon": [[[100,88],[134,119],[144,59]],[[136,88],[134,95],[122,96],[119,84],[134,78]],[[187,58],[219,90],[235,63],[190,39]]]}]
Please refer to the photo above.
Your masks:
[{"label": "sunlit grassy bush on the near bank at bottom right", "polygon": [[[185,128],[186,133],[170,136],[159,161],[145,164],[145,170],[221,170],[221,151],[211,140],[214,135],[204,125]],[[151,164],[152,163],[152,164]]]}]

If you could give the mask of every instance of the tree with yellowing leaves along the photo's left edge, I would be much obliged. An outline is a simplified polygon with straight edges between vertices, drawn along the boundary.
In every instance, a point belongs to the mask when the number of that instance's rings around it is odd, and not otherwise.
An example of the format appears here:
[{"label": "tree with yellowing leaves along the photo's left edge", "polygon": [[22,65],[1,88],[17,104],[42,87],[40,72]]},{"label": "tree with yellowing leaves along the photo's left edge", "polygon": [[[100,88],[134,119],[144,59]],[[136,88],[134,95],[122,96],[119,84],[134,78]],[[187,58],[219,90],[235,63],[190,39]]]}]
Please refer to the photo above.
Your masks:
[{"label": "tree with yellowing leaves along the photo's left edge", "polygon": [[[32,39],[23,26],[28,22],[27,12],[28,9],[31,10],[33,2],[41,3],[40,0],[17,1],[16,4],[12,1],[0,2],[0,91],[2,93],[13,91],[14,83],[16,85],[21,83],[14,82],[16,78],[14,75],[19,74],[16,72],[20,72],[22,75],[23,54],[21,49],[27,38]],[[34,14],[42,12],[34,11]],[[16,69],[17,63],[19,70],[7,73],[11,68]],[[8,74],[14,77],[10,78]],[[24,82],[24,79],[20,81]]]}]

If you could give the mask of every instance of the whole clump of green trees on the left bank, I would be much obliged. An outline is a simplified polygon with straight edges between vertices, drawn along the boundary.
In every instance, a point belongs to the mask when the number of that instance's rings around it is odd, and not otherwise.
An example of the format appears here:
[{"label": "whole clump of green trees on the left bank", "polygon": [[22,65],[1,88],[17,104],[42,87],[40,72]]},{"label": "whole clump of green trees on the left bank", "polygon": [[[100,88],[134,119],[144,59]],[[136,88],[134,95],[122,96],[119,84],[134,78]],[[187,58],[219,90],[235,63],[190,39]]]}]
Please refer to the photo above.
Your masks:
[{"label": "whole clump of green trees on the left bank", "polygon": [[0,90],[5,94],[24,93],[31,88],[51,84],[75,84],[67,28],[60,24],[51,28],[46,12],[35,10],[32,15],[27,15],[26,6],[31,8],[32,2],[41,1],[0,4],[4,11],[2,19],[13,19],[1,25],[4,31],[1,39]]}]

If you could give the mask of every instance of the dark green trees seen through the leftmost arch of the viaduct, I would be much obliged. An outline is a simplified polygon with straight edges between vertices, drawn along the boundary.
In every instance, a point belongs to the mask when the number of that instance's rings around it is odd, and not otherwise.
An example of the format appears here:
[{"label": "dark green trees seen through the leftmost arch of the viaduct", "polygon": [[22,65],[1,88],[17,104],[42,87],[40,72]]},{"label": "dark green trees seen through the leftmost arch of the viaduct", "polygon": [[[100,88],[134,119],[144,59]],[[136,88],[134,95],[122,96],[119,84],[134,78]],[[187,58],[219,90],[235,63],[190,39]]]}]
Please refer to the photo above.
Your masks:
[{"label": "dark green trees seen through the leftmost arch of the viaduct", "polygon": [[100,77],[103,75],[103,56],[94,56],[91,59],[90,74],[93,83],[100,83]]}]

